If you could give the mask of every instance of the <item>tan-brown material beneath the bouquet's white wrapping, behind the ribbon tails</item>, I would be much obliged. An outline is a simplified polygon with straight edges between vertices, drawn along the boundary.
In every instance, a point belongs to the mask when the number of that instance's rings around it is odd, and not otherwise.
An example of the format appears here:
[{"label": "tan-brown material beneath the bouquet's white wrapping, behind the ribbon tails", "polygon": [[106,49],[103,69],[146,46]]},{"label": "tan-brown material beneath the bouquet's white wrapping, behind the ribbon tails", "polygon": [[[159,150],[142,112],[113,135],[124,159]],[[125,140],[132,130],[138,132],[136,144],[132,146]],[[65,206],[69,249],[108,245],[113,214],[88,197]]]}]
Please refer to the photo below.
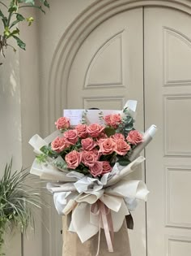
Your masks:
[{"label": "tan-brown material beneath the bouquet's white wrapping, behind the ribbon tails", "polygon": [[[82,243],[79,236],[68,231],[70,215],[62,217],[63,249],[62,256],[96,256],[98,246],[98,234]],[[108,252],[108,245],[105,240],[104,229],[100,233],[100,253],[99,256],[131,256],[129,246],[128,230],[124,221],[119,232],[114,233],[114,252]]]}]

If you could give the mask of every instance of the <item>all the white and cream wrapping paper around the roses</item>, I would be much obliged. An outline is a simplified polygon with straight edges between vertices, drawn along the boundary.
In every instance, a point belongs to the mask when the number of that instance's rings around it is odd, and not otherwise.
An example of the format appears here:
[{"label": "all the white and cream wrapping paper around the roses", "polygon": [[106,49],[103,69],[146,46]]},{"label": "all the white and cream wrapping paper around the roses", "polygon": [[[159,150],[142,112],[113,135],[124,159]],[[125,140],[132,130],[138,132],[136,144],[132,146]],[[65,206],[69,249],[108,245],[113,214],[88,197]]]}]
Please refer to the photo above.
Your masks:
[{"label": "all the white and cream wrapping paper around the roses", "polygon": [[[125,104],[129,115],[134,119],[136,106],[136,101],[128,101]],[[72,116],[74,114],[71,113],[71,110],[67,113]],[[121,116],[124,115],[123,111],[117,111],[117,113],[121,113]],[[73,121],[75,123],[76,119]],[[100,228],[103,228],[99,209],[96,214],[91,207],[97,202],[103,202],[104,206],[108,207],[112,217],[113,230],[118,232],[125,215],[129,215],[129,210],[135,209],[138,200],[146,201],[149,193],[146,184],[142,180],[128,180],[128,175],[145,160],[142,156],[138,157],[138,154],[151,141],[155,133],[154,130],[156,127],[152,126],[145,132],[144,141],[134,149],[130,156],[132,162],[129,165],[121,167],[119,163],[116,163],[112,171],[104,174],[101,179],[84,176],[76,171],[58,169],[54,167],[54,162],[59,159],[48,158],[46,163],[38,163],[37,160],[33,162],[30,172],[42,179],[53,181],[53,183],[47,184],[47,189],[53,193],[57,212],[60,215],[71,214],[69,230],[76,232],[80,241],[87,241],[91,236],[96,235]],[[43,145],[49,145],[49,142],[60,135],[61,132],[56,131],[45,140],[35,135],[29,144],[33,146],[36,154],[40,154],[40,148]]]}]

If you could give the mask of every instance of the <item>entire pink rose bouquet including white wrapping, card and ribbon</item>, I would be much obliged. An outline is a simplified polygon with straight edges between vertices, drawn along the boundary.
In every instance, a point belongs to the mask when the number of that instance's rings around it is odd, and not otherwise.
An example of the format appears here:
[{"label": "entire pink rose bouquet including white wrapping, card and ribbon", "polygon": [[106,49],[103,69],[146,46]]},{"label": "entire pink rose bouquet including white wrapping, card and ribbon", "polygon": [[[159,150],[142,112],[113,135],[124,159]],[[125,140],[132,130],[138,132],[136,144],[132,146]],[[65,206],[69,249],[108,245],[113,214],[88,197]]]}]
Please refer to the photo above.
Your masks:
[{"label": "entire pink rose bouquet including white wrapping, card and ribbon", "polygon": [[128,101],[122,111],[65,110],[55,122],[56,132],[29,141],[37,154],[31,173],[52,181],[47,189],[57,212],[70,217],[63,255],[69,255],[65,249],[71,236],[84,252],[97,241],[97,250],[87,255],[107,255],[103,233],[108,253],[116,249],[114,255],[130,255],[122,245],[117,254],[117,241],[122,241],[125,216],[149,192],[142,180],[129,180],[128,175],[144,161],[139,154],[157,129],[152,125],[142,134],[134,128],[136,105]]}]

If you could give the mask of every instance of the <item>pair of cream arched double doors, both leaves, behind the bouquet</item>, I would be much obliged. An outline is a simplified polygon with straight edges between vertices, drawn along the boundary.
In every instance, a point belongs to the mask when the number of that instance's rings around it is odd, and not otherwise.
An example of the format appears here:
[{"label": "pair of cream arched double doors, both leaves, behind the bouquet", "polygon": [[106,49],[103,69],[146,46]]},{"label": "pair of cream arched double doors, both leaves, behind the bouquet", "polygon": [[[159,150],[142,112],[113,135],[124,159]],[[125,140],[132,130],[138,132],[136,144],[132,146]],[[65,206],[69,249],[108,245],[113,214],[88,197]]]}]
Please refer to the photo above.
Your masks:
[{"label": "pair of cream arched double doors, both leaves, behind the bouquet", "polygon": [[190,67],[191,16],[160,7],[105,20],[70,67],[68,108],[121,109],[127,99],[137,99],[136,127],[159,127],[146,148],[146,170],[134,174],[144,180],[146,171],[151,193],[146,209],[140,203],[134,212],[132,256],[190,255]]}]

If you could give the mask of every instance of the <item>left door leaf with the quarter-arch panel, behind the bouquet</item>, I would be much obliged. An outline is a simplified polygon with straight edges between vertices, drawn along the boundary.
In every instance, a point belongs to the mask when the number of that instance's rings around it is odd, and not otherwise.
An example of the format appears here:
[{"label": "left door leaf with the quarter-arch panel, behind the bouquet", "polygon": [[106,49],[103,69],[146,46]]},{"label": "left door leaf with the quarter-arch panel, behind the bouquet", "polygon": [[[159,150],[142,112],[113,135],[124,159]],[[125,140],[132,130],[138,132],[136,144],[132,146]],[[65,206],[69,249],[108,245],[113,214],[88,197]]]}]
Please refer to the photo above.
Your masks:
[{"label": "left door leaf with the quarter-arch panel, behind the bouquet", "polygon": [[[142,8],[100,24],[83,42],[70,69],[67,107],[119,109],[138,100],[136,128],[143,130]],[[143,171],[134,179],[143,179]],[[134,213],[133,255],[146,255],[145,203]]]}]

